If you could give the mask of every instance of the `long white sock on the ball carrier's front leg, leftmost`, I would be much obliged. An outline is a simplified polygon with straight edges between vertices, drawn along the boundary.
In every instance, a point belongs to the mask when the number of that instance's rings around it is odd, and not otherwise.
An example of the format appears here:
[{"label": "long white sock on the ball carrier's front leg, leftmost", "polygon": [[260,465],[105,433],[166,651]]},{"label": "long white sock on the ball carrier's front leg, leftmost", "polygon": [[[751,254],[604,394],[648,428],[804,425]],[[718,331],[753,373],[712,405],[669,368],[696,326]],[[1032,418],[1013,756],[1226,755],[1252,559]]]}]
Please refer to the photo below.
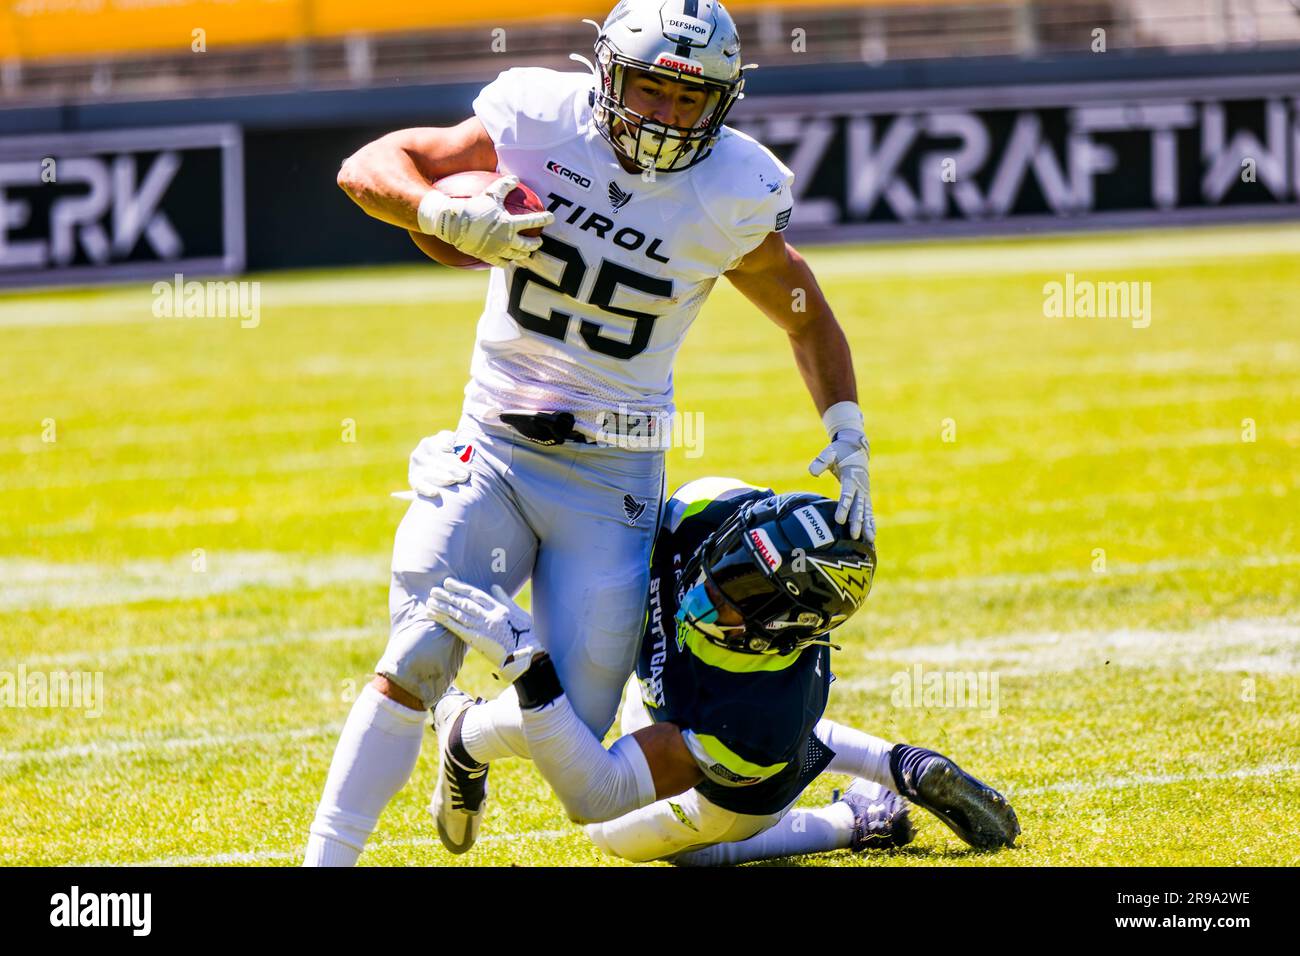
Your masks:
[{"label": "long white sock on the ball carrier's front leg, leftmost", "polygon": [[303,866],[356,862],[380,813],[415,770],[424,719],[424,710],[404,708],[365,685],[334,748]]}]

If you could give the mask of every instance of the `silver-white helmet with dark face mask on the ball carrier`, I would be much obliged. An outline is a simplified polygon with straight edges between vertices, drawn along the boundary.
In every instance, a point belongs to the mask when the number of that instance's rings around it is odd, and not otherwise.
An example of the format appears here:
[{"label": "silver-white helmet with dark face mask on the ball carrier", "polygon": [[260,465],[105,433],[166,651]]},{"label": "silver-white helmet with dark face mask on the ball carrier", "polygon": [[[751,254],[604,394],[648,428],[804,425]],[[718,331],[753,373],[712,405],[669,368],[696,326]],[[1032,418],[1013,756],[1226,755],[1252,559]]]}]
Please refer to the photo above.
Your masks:
[{"label": "silver-white helmet with dark face mask on the ball carrier", "polygon": [[[578,57],[575,57],[578,59]],[[614,151],[641,169],[688,169],[712,150],[745,86],[740,35],[718,0],[621,0],[595,40],[594,120]],[[699,85],[707,96],[694,126],[670,126],[630,109],[628,68]]]}]

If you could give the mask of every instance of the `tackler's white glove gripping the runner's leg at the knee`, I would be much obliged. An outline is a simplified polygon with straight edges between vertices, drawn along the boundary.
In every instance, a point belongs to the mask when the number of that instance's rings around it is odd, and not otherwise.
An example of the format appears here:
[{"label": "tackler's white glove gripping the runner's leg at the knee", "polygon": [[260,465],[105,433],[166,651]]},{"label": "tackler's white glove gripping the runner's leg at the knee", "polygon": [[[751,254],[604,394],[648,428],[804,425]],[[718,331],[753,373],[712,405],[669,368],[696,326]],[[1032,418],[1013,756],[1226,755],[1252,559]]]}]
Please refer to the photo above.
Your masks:
[{"label": "tackler's white glove gripping the runner's leg at the knee", "polygon": [[455,578],[442,585],[429,593],[429,618],[491,661],[507,684],[526,671],[538,652],[530,643],[533,617],[499,584],[491,594]]}]

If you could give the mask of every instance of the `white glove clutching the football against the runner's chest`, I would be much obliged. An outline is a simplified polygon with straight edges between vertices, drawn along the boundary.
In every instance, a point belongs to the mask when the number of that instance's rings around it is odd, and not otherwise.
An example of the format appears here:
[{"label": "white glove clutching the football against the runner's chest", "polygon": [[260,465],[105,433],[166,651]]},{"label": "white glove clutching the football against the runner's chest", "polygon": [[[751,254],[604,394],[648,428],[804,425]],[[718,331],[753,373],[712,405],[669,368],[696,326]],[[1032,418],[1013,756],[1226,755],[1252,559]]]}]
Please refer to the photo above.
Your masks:
[{"label": "white glove clutching the football against the runner's chest", "polygon": [[436,235],[489,265],[504,267],[510,261],[528,259],[541,248],[542,239],[520,233],[551,225],[555,213],[506,212],[506,196],[517,185],[517,176],[503,176],[469,199],[454,199],[430,189],[420,200],[420,232]]}]

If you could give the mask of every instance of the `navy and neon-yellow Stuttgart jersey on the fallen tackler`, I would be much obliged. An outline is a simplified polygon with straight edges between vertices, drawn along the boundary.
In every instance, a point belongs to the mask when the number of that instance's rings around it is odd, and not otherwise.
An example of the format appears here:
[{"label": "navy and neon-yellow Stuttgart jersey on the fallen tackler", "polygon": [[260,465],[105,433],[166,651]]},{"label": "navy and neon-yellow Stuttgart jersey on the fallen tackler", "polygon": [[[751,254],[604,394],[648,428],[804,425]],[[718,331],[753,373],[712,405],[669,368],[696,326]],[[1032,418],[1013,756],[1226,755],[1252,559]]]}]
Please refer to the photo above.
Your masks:
[{"label": "navy and neon-yellow Stuttgart jersey on the fallen tackler", "polygon": [[697,790],[734,813],[785,809],[832,753],[812,734],[831,688],[829,648],[741,654],[676,626],[682,567],[710,533],[770,490],[699,479],[664,505],[650,561],[637,680],[650,717],[675,723],[705,773]]}]

